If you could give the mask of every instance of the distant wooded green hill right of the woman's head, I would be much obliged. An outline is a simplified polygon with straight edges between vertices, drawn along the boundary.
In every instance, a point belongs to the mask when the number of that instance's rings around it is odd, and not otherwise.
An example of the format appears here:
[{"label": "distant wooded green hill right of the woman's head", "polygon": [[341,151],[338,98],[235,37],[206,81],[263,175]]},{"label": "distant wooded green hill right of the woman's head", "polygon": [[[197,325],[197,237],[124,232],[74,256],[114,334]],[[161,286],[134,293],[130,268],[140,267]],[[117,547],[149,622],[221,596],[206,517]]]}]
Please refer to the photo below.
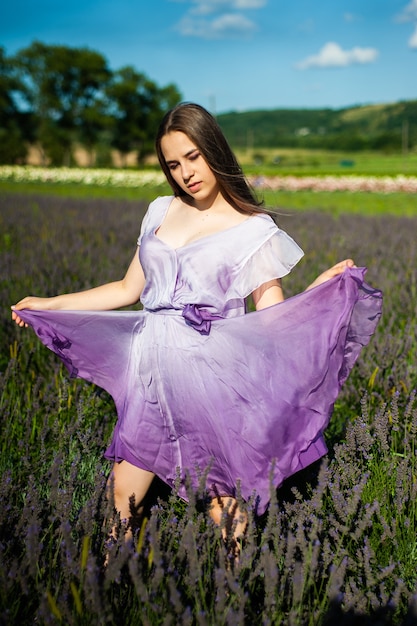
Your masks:
[{"label": "distant wooded green hill right of the woman's head", "polygon": [[217,116],[233,148],[400,152],[417,147],[417,100],[346,109],[276,109]]}]

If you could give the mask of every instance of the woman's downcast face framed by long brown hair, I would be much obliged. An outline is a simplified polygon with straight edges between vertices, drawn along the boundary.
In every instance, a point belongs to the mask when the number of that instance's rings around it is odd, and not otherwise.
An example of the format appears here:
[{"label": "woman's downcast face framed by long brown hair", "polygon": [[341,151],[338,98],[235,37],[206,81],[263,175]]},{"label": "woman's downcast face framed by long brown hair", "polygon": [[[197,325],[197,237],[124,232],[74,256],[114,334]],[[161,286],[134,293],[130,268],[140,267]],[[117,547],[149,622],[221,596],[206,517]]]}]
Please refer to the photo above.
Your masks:
[{"label": "woman's downcast face framed by long brown hair", "polygon": [[213,203],[220,194],[219,184],[191,139],[185,133],[171,131],[162,137],[161,150],[172,178],[195,205]]}]

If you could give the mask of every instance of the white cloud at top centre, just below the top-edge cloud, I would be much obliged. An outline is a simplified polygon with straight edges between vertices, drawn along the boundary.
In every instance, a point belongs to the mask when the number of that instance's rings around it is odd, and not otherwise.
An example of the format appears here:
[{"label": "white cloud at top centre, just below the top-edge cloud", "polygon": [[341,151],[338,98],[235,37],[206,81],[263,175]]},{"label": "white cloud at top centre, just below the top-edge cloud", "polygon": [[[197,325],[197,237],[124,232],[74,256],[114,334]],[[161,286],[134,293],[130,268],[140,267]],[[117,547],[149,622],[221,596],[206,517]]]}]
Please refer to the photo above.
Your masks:
[{"label": "white cloud at top centre, just below the top-edge cloud", "polygon": [[250,35],[256,24],[240,13],[225,13],[212,20],[188,15],[179,22],[177,30],[186,37],[225,39]]}]

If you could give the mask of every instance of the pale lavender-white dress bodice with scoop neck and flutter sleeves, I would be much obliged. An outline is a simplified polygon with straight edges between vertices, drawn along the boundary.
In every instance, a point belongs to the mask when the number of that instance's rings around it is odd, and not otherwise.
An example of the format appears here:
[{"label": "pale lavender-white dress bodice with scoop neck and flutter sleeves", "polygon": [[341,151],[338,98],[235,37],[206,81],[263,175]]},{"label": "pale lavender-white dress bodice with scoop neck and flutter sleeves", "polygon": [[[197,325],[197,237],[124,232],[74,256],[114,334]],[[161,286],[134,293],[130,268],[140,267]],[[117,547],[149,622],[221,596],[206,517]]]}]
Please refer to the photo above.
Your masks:
[{"label": "pale lavender-white dress bodice with scoop neck and flutter sleeves", "polygon": [[221,317],[241,315],[250,293],[288,274],[303,255],[267,214],[174,249],[156,234],[172,199],[151,203],[138,240],[146,278],[141,302],[148,310],[197,304]]}]

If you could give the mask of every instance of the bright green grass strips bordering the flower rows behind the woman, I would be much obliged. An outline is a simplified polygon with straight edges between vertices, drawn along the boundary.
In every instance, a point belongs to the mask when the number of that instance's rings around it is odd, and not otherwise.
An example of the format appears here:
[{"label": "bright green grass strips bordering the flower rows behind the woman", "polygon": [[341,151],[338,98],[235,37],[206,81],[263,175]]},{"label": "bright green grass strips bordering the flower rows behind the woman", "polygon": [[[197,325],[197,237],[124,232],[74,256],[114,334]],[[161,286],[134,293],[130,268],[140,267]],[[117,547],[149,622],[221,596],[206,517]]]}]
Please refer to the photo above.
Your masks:
[{"label": "bright green grass strips bordering the flower rows behind the woman", "polygon": [[[280,156],[280,162],[274,159]],[[378,153],[344,154],[329,151],[265,149],[238,152],[247,176],[365,176],[396,177],[417,176],[417,154],[384,155]],[[256,164],[256,161],[260,160]],[[344,166],[343,162],[351,163]],[[352,164],[353,163],[353,164]],[[131,170],[134,171],[134,170]],[[147,171],[154,171],[148,168]],[[159,170],[158,170],[159,171]],[[88,170],[85,170],[86,174]],[[29,182],[4,180],[0,175],[0,193],[56,195],[68,198],[114,198],[120,200],[145,199],[170,193],[166,183],[138,188],[108,184],[82,184],[65,182]],[[343,212],[361,215],[403,215],[417,213],[416,195],[413,193],[354,193],[348,191],[272,191],[257,190],[266,205],[278,211],[328,211],[335,215]]]}]

